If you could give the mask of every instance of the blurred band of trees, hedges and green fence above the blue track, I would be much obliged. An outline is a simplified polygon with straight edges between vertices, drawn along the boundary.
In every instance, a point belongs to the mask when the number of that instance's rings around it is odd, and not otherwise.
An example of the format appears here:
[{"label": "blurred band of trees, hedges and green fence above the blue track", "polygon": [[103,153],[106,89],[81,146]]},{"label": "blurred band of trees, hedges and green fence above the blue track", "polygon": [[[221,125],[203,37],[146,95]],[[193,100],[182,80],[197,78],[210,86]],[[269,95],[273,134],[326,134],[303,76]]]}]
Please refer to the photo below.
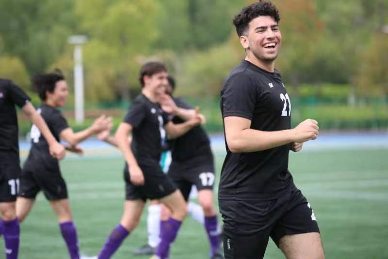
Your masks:
[{"label": "blurred band of trees, hedges and green fence above the blue track", "polygon": [[[30,78],[58,67],[72,95],[71,35],[83,45],[86,124],[122,119],[140,92],[138,71],[162,60],[177,94],[201,106],[222,131],[219,92],[244,58],[231,23],[252,0],[0,0],[0,71],[31,93]],[[274,0],[283,47],[276,67],[292,99],[293,125],[314,117],[326,130],[388,129],[388,1]],[[81,125],[82,126],[82,125]],[[29,125],[21,125],[25,134]]]}]

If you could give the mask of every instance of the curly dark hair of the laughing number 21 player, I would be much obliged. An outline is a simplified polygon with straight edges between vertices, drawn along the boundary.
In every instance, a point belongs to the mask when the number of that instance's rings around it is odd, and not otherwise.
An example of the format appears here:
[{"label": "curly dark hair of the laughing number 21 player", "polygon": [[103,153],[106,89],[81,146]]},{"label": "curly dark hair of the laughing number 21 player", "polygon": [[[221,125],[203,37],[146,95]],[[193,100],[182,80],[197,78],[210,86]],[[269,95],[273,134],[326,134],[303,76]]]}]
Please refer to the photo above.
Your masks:
[{"label": "curly dark hair of the laughing number 21 player", "polygon": [[271,16],[278,23],[280,20],[279,11],[276,6],[267,0],[259,0],[247,7],[234,17],[233,25],[236,27],[236,32],[239,37],[246,33],[251,20],[259,16]]}]

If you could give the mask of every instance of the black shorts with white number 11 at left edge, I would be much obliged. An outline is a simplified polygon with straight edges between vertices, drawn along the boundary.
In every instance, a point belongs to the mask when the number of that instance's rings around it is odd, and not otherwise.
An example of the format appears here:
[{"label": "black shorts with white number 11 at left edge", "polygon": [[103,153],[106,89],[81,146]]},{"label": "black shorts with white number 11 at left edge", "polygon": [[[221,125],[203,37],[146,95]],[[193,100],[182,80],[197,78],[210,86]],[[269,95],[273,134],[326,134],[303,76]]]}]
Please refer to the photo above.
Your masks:
[{"label": "black shorts with white number 11 at left edge", "polygon": [[16,201],[20,173],[19,154],[0,152],[0,202]]}]

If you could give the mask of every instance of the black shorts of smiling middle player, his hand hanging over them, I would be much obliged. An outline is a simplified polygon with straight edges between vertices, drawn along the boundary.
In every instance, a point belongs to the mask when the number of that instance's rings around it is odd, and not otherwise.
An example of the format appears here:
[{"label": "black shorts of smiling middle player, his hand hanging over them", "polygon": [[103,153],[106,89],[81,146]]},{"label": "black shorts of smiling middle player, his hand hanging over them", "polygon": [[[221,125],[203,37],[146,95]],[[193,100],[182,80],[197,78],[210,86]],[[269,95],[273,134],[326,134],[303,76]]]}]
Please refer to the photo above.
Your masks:
[{"label": "black shorts of smiling middle player, his hand hanging over them", "polygon": [[145,184],[134,185],[130,182],[128,165],[124,167],[125,198],[126,200],[161,199],[177,190],[174,182],[163,173],[160,165],[155,163],[139,164],[143,171]]}]

